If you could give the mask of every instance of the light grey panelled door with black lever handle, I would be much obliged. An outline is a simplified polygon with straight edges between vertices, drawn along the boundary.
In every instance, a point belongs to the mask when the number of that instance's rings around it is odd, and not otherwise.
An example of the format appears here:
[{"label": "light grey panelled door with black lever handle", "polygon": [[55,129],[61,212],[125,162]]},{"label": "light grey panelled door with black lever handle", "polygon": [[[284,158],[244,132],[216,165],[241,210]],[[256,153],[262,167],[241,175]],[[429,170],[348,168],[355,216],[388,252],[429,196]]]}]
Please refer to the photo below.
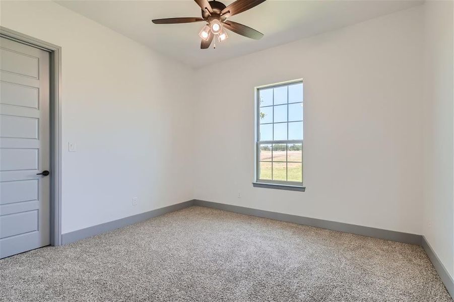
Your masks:
[{"label": "light grey panelled door with black lever handle", "polygon": [[48,52],[0,38],[0,258],[50,244],[49,82]]}]

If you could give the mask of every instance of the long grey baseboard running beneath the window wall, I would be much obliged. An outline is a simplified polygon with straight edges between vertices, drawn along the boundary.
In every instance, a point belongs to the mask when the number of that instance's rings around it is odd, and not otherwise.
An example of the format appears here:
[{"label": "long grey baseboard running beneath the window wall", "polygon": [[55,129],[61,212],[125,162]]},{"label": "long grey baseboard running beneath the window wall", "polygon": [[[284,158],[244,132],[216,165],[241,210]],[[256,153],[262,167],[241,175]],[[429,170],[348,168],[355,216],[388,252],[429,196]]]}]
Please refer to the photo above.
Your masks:
[{"label": "long grey baseboard running beneath the window wall", "polygon": [[379,239],[409,243],[409,244],[416,244],[421,245],[421,235],[410,234],[410,233],[403,233],[403,232],[396,232],[396,231],[389,231],[389,230],[382,230],[376,228],[370,228],[369,226],[362,226],[356,224],[349,224],[343,222],[336,222],[330,220],[323,220],[317,218],[310,218],[310,217],[303,217],[291,214],[284,214],[284,213],[277,213],[265,210],[258,210],[248,207],[242,207],[237,205],[231,204],[224,204],[224,203],[217,203],[205,200],[194,199],[194,205],[200,205],[205,207],[216,208],[220,210],[264,217],[264,218],[271,218],[275,220],[281,220],[286,222],[293,222],[298,224],[316,226],[317,228],[322,229],[329,229],[334,231],[352,233],[362,236],[369,236]]}]

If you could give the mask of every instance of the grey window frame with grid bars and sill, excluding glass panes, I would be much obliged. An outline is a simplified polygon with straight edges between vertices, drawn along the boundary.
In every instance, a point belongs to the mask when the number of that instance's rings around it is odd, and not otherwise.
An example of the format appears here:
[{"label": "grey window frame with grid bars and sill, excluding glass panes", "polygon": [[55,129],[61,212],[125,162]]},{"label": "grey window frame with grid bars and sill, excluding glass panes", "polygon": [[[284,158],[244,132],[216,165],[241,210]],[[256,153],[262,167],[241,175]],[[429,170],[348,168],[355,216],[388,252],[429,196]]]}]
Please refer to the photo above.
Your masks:
[{"label": "grey window frame with grid bars and sill, excluding glass panes", "polygon": [[[279,104],[279,105],[287,105],[287,121],[282,122],[282,123],[287,123],[287,138],[288,138],[288,117],[289,117],[289,105],[290,104],[299,104],[301,103],[303,106],[303,117],[302,120],[298,121],[292,121],[292,122],[301,122],[302,127],[303,127],[303,133],[302,133],[302,139],[280,139],[280,140],[273,140],[274,139],[274,106],[277,106],[274,104],[274,93],[273,93],[273,103],[269,106],[263,106],[263,107],[272,107],[273,108],[273,119],[271,123],[264,123],[264,124],[271,124],[273,125],[273,139],[272,140],[264,140],[260,141],[260,117],[258,116],[260,114],[260,100],[259,98],[259,91],[267,88],[279,88],[283,86],[290,86],[292,84],[302,84],[303,85],[303,99],[302,102],[293,102],[293,103],[288,103],[288,91],[287,91],[287,103],[285,104]],[[277,122],[276,124],[278,124]],[[303,186],[303,175],[304,175],[304,168],[303,168],[303,158],[304,158],[304,82],[302,79],[297,79],[297,80],[291,80],[291,81],[286,81],[286,82],[280,82],[276,84],[270,84],[270,85],[263,85],[263,86],[257,86],[254,89],[254,182],[252,183],[254,187],[264,187],[264,188],[276,188],[276,189],[284,189],[284,190],[295,190],[295,191],[305,191],[305,187]],[[270,144],[271,145],[271,153],[272,153],[272,159],[270,161],[272,167],[273,167],[273,144],[286,144],[286,155],[288,153],[288,146],[292,143],[297,143],[301,144],[301,182],[294,182],[294,181],[282,181],[282,180],[266,180],[266,179],[259,179],[260,177],[260,145],[263,144]],[[288,178],[288,158],[286,156],[286,173]],[[290,162],[291,163],[291,162]],[[272,168],[272,174],[273,174],[273,168]]]}]

